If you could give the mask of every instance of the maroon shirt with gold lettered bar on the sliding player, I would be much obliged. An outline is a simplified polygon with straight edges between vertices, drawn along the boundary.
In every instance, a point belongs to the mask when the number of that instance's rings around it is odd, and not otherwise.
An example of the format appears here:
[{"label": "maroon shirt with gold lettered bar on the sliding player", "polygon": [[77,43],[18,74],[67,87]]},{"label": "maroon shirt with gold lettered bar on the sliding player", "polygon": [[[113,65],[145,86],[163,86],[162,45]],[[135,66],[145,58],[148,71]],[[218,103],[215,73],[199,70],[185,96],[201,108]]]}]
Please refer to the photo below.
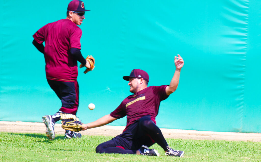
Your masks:
[{"label": "maroon shirt with gold lettered bar on the sliding player", "polygon": [[149,86],[133,95],[129,95],[110,115],[118,119],[127,115],[125,130],[129,125],[145,115],[150,115],[151,120],[155,122],[159,112],[159,103],[168,98],[165,91],[167,86]]}]

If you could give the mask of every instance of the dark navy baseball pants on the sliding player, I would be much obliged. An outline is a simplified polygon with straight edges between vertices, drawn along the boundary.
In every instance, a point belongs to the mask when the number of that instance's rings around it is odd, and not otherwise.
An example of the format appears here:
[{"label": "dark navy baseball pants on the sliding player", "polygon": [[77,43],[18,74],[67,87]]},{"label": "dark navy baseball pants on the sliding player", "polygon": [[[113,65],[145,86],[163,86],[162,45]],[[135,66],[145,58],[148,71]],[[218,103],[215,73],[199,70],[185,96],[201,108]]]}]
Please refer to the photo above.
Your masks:
[{"label": "dark navy baseball pants on the sliding player", "polygon": [[161,130],[151,120],[150,115],[146,115],[131,124],[122,134],[99,144],[96,153],[136,154],[142,145],[150,147],[155,142],[167,150],[168,143]]}]

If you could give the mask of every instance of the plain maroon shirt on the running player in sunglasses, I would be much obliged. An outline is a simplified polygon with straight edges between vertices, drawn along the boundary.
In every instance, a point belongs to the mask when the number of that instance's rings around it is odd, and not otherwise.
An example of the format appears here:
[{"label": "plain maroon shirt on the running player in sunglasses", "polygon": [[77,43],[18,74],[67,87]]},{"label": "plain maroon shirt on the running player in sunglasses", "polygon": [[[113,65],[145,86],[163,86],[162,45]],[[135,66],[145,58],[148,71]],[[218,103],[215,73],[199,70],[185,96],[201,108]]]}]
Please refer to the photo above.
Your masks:
[{"label": "plain maroon shirt on the running player in sunglasses", "polygon": [[81,29],[68,19],[49,23],[33,35],[37,43],[45,42],[47,79],[64,82],[74,82],[77,79],[77,60],[70,53],[70,48],[81,49],[81,35]]}]

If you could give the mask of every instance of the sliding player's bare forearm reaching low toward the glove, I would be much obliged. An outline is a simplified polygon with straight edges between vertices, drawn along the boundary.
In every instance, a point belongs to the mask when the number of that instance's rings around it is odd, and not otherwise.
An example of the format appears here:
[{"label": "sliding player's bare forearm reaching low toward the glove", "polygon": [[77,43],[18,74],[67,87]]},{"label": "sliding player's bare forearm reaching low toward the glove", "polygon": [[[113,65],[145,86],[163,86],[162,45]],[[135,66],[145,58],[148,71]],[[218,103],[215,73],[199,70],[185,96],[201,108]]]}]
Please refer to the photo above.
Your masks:
[{"label": "sliding player's bare forearm reaching low toward the glove", "polygon": [[109,124],[109,123],[113,122],[114,120],[117,120],[117,118],[114,118],[110,114],[108,114],[108,115],[105,115],[104,117],[101,117],[100,119],[98,119],[94,122],[91,122],[91,123],[88,123],[88,124],[82,124],[81,128],[82,128],[82,130],[96,128],[96,127],[99,127],[99,126]]}]

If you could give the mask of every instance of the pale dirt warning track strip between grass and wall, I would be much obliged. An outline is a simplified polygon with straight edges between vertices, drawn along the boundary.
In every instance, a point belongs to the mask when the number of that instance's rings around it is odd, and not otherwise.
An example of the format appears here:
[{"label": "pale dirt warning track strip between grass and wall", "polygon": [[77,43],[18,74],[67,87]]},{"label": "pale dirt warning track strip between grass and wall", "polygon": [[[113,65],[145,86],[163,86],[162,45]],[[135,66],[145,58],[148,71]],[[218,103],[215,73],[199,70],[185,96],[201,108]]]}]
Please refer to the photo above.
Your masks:
[{"label": "pale dirt warning track strip between grass and wall", "polygon": [[[64,134],[61,127],[62,124],[55,124],[55,134]],[[81,131],[82,135],[103,135],[116,136],[122,133],[124,126],[104,125],[98,128]],[[44,123],[32,122],[5,122],[0,121],[1,132],[16,132],[16,133],[43,133],[45,134],[46,127]],[[161,128],[165,138],[181,138],[193,140],[225,140],[225,141],[252,141],[261,142],[261,133],[235,133],[235,132],[211,132],[211,131],[195,131],[195,130],[180,130],[180,129],[165,129]]]}]

